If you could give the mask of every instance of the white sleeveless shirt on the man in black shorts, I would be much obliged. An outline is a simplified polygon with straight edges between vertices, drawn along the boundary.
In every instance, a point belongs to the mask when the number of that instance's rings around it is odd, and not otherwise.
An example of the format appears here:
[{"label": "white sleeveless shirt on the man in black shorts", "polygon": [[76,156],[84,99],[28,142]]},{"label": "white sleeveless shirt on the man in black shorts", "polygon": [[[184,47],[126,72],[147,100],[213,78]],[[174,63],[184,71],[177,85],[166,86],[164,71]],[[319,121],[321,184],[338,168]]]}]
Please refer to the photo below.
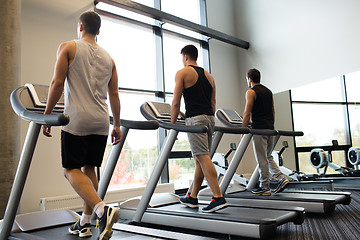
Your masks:
[{"label": "white sleeveless shirt on the man in black shorts", "polygon": [[112,76],[112,59],[107,51],[84,40],[74,40],[76,54],[65,81],[64,113],[70,117],[62,130],[78,136],[108,135],[106,104]]}]

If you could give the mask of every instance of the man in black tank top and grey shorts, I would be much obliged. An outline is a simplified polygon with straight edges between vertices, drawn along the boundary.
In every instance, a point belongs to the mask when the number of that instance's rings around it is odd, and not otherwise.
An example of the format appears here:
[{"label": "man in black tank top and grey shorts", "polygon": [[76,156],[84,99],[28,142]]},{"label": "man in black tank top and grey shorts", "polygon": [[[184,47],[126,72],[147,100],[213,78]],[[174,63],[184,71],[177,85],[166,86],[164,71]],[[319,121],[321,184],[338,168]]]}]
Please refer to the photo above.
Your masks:
[{"label": "man in black tank top and grey shorts", "polygon": [[180,112],[181,97],[184,96],[186,125],[206,126],[209,131],[208,133],[188,133],[191,152],[195,160],[195,174],[192,191],[181,198],[180,202],[191,208],[198,207],[197,194],[205,177],[213,193],[213,200],[202,211],[214,212],[227,207],[219,188],[215,167],[209,156],[215,125],[215,80],[210,73],[197,65],[198,51],[195,46],[185,46],[181,54],[184,68],[175,75],[171,122],[176,122]]}]

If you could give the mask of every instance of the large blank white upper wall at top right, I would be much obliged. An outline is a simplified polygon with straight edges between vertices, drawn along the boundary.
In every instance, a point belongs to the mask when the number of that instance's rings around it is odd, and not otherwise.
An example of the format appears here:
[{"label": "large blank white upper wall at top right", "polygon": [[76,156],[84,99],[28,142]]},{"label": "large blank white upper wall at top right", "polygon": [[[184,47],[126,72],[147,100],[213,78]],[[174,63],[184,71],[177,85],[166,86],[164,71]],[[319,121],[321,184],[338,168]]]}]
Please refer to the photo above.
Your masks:
[{"label": "large blank white upper wall at top right", "polygon": [[237,37],[250,42],[241,63],[281,92],[360,70],[357,0],[238,0]]}]

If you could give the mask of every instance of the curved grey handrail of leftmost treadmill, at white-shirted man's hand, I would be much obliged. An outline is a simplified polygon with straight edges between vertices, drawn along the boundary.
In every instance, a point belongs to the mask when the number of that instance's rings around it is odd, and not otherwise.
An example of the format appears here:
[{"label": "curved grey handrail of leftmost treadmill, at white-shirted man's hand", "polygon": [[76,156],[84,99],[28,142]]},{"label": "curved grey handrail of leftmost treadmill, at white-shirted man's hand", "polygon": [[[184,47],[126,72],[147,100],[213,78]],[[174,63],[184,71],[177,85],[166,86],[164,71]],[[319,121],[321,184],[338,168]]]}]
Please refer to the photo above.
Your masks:
[{"label": "curved grey handrail of leftmost treadmill, at white-shirted man's hand", "polygon": [[11,106],[22,119],[47,126],[63,126],[70,122],[69,116],[63,113],[45,115],[27,110],[20,100],[21,92],[25,89],[26,87],[18,87],[10,95]]}]

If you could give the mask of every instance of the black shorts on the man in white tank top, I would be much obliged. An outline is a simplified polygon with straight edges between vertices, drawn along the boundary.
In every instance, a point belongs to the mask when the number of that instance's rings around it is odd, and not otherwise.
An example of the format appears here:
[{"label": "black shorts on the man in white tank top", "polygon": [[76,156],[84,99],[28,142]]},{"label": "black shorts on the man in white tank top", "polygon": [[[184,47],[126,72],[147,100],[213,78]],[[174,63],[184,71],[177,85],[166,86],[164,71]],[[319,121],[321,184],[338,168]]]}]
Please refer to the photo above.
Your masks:
[{"label": "black shorts on the man in white tank top", "polygon": [[103,161],[107,136],[76,136],[61,131],[62,166],[67,169],[85,165],[100,167]]}]

